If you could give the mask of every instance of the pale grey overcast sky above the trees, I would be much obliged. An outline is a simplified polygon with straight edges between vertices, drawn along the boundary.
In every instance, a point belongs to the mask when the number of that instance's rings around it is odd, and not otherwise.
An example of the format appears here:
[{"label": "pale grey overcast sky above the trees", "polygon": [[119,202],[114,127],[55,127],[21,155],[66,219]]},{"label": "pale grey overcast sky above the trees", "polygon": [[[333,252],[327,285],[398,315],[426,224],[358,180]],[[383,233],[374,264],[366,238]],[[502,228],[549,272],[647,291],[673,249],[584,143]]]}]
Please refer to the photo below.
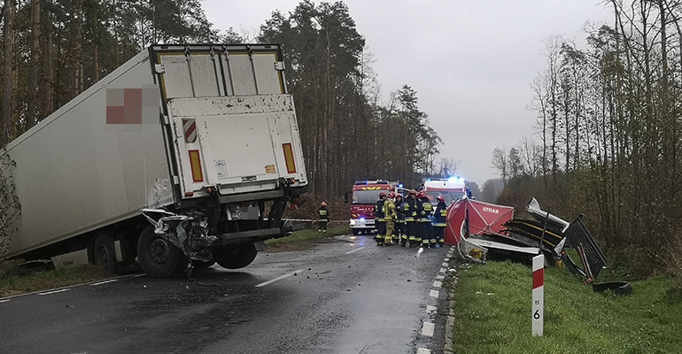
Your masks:
[{"label": "pale grey overcast sky above the trees", "polygon": [[[384,97],[410,85],[443,139],[441,157],[475,181],[499,177],[492,150],[537,141],[532,82],[546,69],[547,39],[585,42],[585,26],[611,23],[600,0],[345,0],[373,53]],[[298,0],[203,0],[221,30],[254,36],[271,12]],[[315,1],[314,4],[320,4]]]}]

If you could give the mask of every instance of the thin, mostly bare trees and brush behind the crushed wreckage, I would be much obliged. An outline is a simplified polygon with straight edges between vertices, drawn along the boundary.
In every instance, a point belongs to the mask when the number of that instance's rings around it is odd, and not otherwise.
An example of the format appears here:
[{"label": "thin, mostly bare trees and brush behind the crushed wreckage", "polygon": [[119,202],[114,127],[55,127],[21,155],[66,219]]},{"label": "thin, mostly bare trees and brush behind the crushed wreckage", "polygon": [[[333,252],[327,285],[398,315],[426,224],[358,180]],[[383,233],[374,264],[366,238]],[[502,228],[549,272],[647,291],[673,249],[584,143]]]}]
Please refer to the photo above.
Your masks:
[{"label": "thin, mostly bare trees and brush behind the crushed wreckage", "polygon": [[[682,4],[602,2],[586,44],[552,38],[533,83],[538,141],[496,149],[498,202],[580,213],[611,266],[682,283]],[[485,186],[484,186],[485,187]]]}]

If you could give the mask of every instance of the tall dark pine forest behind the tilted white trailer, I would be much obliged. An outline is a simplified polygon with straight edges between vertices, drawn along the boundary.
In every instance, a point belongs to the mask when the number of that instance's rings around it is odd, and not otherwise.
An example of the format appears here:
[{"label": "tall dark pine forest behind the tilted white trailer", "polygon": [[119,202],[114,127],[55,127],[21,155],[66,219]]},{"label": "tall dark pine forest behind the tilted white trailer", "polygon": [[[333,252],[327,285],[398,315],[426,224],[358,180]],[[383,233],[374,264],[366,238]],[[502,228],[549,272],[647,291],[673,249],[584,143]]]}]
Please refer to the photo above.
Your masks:
[{"label": "tall dark pine forest behind the tilted white trailer", "polygon": [[[151,43],[283,44],[309,191],[342,196],[353,181],[415,185],[438,174],[441,140],[417,92],[380,97],[372,55],[343,2],[272,12],[256,38],[219,31],[199,0],[5,0],[0,146]],[[449,160],[452,165],[452,160]],[[446,161],[447,162],[447,161]]]}]

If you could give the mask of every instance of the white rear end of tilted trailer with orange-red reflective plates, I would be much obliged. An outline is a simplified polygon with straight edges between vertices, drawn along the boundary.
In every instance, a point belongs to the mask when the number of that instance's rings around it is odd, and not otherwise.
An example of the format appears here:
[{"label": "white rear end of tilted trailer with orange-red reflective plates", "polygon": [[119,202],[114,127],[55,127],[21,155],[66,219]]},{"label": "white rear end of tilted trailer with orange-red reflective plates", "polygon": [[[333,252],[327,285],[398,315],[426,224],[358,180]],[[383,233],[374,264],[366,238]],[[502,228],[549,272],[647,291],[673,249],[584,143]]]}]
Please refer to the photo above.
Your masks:
[{"label": "white rear end of tilted trailer with orange-red reflective plates", "polygon": [[185,197],[305,183],[298,124],[273,46],[162,48],[155,64]]}]

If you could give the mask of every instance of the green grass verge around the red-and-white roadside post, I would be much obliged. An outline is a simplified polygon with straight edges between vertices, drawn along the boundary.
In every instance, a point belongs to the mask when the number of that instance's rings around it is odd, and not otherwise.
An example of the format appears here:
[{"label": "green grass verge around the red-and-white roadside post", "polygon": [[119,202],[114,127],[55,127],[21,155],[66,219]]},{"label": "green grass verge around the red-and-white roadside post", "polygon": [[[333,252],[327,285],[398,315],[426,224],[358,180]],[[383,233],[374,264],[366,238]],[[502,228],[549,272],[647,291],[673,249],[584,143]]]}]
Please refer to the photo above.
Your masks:
[{"label": "green grass verge around the red-and-white roadside post", "polygon": [[682,301],[670,279],[632,281],[630,296],[595,293],[565,268],[545,270],[544,336],[531,335],[531,268],[461,267],[454,288],[453,352],[676,353]]}]

